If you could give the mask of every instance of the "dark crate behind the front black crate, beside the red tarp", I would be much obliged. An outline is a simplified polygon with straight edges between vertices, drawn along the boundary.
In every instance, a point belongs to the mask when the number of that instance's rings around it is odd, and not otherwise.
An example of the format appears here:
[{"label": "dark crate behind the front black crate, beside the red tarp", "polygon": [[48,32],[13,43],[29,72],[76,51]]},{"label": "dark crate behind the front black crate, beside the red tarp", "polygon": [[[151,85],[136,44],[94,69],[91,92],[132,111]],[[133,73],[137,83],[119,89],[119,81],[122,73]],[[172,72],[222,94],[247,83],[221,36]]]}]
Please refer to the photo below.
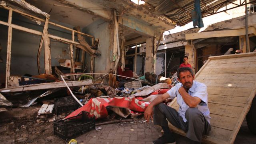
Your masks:
[{"label": "dark crate behind the front black crate, beside the red tarp", "polygon": [[78,102],[76,102],[76,100],[72,96],[66,96],[63,98],[58,98],[56,100],[54,110],[55,113],[59,115],[63,112],[66,113],[69,110],[76,110],[79,106],[80,105],[78,104]]}]

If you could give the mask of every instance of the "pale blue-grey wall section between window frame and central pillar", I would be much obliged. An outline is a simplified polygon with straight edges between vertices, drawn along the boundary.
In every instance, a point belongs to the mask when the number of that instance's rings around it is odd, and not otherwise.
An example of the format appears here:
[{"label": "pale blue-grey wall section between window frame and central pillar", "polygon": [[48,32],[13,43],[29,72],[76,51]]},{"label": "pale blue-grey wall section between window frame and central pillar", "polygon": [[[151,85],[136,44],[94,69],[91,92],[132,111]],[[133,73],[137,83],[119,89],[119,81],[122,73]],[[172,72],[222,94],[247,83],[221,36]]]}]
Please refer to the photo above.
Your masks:
[{"label": "pale blue-grey wall section between window frame and central pillar", "polygon": [[[100,56],[94,58],[94,73],[107,73],[110,68],[114,68],[114,62],[110,62],[110,50],[113,38],[111,35],[114,33],[110,22],[105,20],[96,20],[92,24],[83,28],[82,32],[94,36],[95,39],[99,39]],[[91,42],[88,41],[89,44]],[[86,62],[90,60],[90,56],[86,54]],[[90,64],[89,64],[90,65]],[[90,72],[90,66],[86,72]]]}]

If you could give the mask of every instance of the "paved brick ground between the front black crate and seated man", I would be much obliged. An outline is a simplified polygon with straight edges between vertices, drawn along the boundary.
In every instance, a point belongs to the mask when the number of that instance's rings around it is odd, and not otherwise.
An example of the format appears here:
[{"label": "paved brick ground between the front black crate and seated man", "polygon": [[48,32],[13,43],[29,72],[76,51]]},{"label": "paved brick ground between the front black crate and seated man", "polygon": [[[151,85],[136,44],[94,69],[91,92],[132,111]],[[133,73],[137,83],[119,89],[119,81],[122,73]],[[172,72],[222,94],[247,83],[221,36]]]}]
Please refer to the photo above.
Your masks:
[{"label": "paved brick ground between the front black crate and seated man", "polygon": [[[161,136],[161,128],[147,123],[119,123],[101,126],[75,138],[78,144],[151,144]],[[188,144],[188,138],[175,134],[177,144]],[[256,144],[256,135],[249,132],[243,122],[234,142],[235,144]]]}]

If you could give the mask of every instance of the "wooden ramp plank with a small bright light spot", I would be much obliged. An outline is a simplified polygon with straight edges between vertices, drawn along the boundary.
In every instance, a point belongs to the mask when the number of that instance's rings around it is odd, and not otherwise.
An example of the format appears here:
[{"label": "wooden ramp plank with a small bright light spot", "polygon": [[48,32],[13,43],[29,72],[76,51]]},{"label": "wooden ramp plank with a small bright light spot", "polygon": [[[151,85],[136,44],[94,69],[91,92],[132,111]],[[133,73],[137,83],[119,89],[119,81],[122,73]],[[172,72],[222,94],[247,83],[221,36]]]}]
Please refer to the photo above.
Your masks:
[{"label": "wooden ramp plank with a small bright light spot", "polygon": [[253,88],[255,80],[196,80],[206,86],[220,86],[230,88]]}]

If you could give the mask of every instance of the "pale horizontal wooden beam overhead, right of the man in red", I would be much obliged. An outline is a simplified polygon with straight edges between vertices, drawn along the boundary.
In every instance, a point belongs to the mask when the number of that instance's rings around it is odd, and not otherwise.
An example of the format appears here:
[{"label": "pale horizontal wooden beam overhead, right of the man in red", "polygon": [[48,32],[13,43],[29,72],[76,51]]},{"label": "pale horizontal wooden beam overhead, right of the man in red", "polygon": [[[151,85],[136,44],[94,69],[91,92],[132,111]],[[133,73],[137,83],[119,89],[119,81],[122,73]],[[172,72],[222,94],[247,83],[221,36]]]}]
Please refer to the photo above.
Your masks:
[{"label": "pale horizontal wooden beam overhead, right of the man in red", "polygon": [[[256,35],[256,29],[254,26],[248,28],[248,34]],[[236,30],[220,30],[212,32],[199,32],[186,34],[186,40],[194,40],[199,38],[214,38],[214,37],[226,37],[226,36],[242,36],[245,35],[245,28]]]}]

